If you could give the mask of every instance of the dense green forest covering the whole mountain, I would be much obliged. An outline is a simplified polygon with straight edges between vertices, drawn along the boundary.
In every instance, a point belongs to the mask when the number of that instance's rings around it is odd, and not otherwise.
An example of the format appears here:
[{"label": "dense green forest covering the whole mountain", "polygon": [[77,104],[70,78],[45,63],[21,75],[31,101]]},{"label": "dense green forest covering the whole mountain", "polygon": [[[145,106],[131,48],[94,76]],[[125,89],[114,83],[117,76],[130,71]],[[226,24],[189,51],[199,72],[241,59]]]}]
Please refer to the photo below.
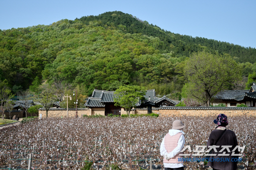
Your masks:
[{"label": "dense green forest covering the whole mountain", "polygon": [[72,86],[115,90],[146,86],[181,98],[184,61],[193,51],[230,55],[243,68],[244,82],[256,71],[256,49],[174,34],[120,11],[48,26],[0,30],[0,88],[12,92],[56,79]]}]

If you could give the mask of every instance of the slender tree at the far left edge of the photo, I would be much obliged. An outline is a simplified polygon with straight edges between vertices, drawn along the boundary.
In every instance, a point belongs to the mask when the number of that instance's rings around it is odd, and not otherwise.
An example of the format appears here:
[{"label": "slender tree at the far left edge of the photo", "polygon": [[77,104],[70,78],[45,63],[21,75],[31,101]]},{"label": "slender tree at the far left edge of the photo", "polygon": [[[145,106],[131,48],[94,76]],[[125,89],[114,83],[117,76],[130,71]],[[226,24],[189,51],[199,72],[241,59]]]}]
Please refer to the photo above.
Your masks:
[{"label": "slender tree at the far left edge of the photo", "polygon": [[4,111],[8,109],[8,101],[14,97],[14,95],[11,93],[11,90],[9,89],[2,89],[0,92],[0,100],[1,100],[1,106],[0,110],[2,113],[2,119],[4,120]]}]

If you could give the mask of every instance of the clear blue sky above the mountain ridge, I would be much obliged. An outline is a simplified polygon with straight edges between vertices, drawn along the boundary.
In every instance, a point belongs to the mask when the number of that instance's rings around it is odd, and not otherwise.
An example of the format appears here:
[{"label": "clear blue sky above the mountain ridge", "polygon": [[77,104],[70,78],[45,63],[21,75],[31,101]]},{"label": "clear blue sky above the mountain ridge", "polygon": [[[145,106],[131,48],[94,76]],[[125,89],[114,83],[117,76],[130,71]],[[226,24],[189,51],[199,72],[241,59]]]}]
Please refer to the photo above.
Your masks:
[{"label": "clear blue sky above the mountain ridge", "polygon": [[256,1],[1,0],[0,29],[122,11],[164,30],[256,48]]}]

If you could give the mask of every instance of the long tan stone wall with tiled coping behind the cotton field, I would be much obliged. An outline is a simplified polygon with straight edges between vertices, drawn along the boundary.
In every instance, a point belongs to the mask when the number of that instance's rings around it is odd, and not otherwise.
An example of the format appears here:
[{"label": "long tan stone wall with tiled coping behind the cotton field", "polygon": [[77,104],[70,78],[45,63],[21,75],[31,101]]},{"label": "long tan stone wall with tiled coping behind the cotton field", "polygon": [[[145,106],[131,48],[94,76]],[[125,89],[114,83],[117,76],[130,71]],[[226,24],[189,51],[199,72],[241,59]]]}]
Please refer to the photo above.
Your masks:
[{"label": "long tan stone wall with tiled coping behind the cotton field", "polygon": [[[158,113],[160,116],[217,116],[218,114],[225,114],[227,116],[256,116],[256,107],[162,107],[152,108],[152,112]],[[42,117],[46,117],[45,109],[39,109],[39,114],[40,113],[42,113]],[[105,108],[78,108],[79,117],[81,115],[89,116],[96,114],[105,115]],[[126,111],[124,110],[124,108],[121,108],[121,115],[123,114],[126,114]],[[132,109],[130,114],[147,114],[147,108]],[[68,115],[69,117],[74,117],[75,109],[68,109]],[[67,116],[67,109],[54,108],[48,111],[48,117],[61,116]]]}]

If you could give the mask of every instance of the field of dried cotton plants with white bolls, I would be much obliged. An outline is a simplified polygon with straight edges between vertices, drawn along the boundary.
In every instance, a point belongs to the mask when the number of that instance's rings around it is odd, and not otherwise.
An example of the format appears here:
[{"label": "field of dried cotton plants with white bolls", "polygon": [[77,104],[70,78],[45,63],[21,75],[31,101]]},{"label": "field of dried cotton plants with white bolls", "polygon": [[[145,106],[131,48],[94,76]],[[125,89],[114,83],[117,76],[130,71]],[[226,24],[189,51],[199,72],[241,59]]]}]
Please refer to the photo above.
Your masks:
[{"label": "field of dried cotton plants with white bolls", "polygon": [[[185,124],[185,145],[195,149],[206,145],[217,117],[99,117],[48,118],[33,120],[0,130],[0,169],[27,169],[27,155],[33,154],[31,169],[163,169],[159,154],[162,138],[174,120]],[[228,117],[228,129],[246,145],[239,165],[255,169],[256,117]],[[34,150],[34,151],[33,151]],[[188,151],[186,151],[188,152]],[[91,164],[90,164],[91,163]],[[211,169],[204,162],[185,162],[185,169]],[[85,170],[85,168],[84,168]]]}]

